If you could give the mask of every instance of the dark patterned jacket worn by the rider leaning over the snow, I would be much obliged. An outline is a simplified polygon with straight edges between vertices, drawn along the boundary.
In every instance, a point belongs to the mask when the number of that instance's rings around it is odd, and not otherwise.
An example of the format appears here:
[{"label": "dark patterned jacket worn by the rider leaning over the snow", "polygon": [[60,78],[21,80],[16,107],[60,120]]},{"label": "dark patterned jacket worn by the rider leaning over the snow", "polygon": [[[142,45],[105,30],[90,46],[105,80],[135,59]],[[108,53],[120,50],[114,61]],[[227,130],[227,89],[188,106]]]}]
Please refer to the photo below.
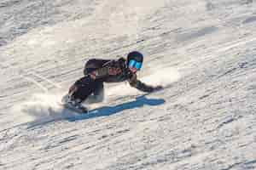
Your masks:
[{"label": "dark patterned jacket worn by the rider leaning over the snow", "polygon": [[[146,85],[137,80],[137,74],[132,73],[126,65],[126,59],[90,59],[84,67],[84,75],[88,75],[95,71],[96,80],[102,82],[124,82],[128,81],[133,88],[137,88],[143,92],[152,92],[154,87]],[[109,69],[119,70],[117,75],[109,75]]]}]

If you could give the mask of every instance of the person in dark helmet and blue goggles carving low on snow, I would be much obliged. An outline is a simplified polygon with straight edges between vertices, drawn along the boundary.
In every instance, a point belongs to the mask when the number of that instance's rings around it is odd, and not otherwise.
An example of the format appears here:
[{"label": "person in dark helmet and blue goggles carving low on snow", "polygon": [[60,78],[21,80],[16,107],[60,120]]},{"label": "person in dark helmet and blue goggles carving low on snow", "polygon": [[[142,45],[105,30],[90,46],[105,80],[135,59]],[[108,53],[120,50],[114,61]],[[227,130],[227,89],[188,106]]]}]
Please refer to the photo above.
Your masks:
[{"label": "person in dark helmet and blue goggles carving low on snow", "polygon": [[133,88],[143,92],[160,90],[161,86],[150,86],[137,79],[137,71],[143,65],[143,54],[132,51],[127,59],[89,59],[84,66],[84,77],[69,88],[63,100],[81,111],[87,109],[81,105],[84,100],[89,104],[102,102],[104,99],[104,82],[128,81]]}]

